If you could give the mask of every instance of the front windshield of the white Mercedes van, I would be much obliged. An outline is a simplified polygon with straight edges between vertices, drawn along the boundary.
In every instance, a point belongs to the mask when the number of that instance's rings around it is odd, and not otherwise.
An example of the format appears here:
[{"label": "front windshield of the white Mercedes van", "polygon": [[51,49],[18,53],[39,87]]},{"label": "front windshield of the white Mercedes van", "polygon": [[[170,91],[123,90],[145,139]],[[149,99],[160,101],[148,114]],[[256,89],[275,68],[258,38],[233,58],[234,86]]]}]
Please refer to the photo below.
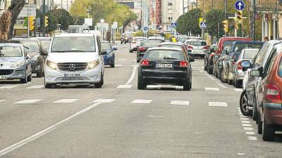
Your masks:
[{"label": "front windshield of the white Mercedes van", "polygon": [[94,37],[55,37],[51,52],[93,52],[95,51]]}]

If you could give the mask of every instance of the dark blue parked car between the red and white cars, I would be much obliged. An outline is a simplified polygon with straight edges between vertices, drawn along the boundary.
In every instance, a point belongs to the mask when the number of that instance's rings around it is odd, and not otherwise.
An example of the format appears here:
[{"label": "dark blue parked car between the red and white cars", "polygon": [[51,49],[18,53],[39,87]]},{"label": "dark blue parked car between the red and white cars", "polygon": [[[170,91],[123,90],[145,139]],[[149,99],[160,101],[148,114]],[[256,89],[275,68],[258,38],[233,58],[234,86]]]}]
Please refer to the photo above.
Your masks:
[{"label": "dark blue parked car between the red and white cars", "polygon": [[[262,44],[264,43],[261,41],[235,41],[231,45],[231,48],[224,52],[226,58],[221,60],[222,63],[219,63],[219,65],[222,65],[219,69],[219,74],[221,74],[219,75],[219,79],[223,83],[228,82],[230,85],[235,85],[235,81],[233,80],[233,65],[238,60],[241,51],[245,48],[261,48]],[[239,84],[237,85],[240,86]]]}]

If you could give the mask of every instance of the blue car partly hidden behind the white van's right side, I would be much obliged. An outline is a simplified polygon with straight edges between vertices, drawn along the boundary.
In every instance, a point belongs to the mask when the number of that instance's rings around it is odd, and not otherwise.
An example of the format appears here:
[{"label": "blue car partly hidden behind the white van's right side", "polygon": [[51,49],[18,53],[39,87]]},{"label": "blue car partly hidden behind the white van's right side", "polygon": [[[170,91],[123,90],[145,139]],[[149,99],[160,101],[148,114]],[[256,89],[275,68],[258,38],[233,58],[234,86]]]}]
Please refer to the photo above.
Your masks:
[{"label": "blue car partly hidden behind the white van's right side", "polygon": [[110,65],[111,67],[115,67],[115,58],[116,55],[114,51],[118,50],[116,47],[112,47],[109,41],[101,41],[102,50],[106,51],[104,57],[104,65]]}]

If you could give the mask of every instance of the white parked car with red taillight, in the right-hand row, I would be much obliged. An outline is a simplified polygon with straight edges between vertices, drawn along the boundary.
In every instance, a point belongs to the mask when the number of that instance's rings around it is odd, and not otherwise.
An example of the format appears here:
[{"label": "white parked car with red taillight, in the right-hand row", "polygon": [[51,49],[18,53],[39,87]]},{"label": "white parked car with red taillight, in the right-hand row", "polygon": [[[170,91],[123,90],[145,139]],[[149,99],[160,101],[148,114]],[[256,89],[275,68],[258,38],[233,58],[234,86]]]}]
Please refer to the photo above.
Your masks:
[{"label": "white parked car with red taillight, in the right-hand row", "polygon": [[231,62],[235,62],[233,66],[233,71],[230,71],[230,73],[233,73],[233,86],[235,86],[236,88],[239,88],[241,85],[243,85],[245,71],[247,71],[242,67],[242,62],[244,62],[245,60],[252,62],[257,53],[259,53],[259,48],[247,48],[241,51],[237,61],[235,61],[234,58],[231,59]]}]

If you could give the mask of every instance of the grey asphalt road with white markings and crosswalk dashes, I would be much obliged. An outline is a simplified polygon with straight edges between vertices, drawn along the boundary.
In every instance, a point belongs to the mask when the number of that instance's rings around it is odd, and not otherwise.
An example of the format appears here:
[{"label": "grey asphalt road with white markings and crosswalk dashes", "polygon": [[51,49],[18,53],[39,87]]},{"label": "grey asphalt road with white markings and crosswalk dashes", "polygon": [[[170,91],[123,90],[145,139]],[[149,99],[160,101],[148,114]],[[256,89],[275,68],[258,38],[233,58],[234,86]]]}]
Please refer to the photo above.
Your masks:
[{"label": "grey asphalt road with white markings and crosswalk dashes", "polygon": [[[0,84],[0,157],[282,157],[240,114],[241,89],[192,63],[192,90],[137,90],[135,53],[118,45],[105,85]],[[135,72],[135,73],[133,73]]]}]

